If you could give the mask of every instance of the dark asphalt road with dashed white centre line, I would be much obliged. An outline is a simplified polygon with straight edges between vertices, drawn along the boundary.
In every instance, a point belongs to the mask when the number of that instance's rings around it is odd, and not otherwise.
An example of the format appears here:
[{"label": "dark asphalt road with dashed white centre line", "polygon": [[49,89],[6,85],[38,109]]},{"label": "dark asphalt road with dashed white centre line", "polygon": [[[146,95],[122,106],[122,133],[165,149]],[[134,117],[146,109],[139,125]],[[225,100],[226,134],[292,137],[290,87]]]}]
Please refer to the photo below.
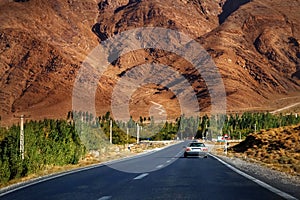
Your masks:
[{"label": "dark asphalt road with dashed white centre line", "polygon": [[43,181],[0,199],[283,199],[211,156],[183,158],[183,145]]}]

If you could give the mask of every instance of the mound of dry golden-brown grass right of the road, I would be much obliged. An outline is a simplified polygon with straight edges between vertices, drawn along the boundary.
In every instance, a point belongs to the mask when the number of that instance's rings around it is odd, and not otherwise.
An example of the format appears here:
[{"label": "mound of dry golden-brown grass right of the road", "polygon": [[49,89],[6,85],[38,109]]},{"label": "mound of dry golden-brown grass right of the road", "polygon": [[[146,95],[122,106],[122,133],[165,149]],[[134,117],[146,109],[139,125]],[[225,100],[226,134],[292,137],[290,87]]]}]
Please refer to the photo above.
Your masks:
[{"label": "mound of dry golden-brown grass right of the road", "polygon": [[228,156],[300,176],[300,125],[263,130],[229,148]]}]

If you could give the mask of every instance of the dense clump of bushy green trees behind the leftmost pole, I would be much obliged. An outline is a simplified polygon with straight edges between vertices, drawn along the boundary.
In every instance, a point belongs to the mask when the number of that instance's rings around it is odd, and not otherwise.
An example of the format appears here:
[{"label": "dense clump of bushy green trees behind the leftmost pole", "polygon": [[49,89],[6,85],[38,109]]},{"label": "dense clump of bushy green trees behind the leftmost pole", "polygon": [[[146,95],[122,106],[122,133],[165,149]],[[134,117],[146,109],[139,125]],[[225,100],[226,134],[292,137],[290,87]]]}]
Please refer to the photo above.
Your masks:
[{"label": "dense clump of bushy green trees behind the leftmost pole", "polygon": [[66,120],[30,121],[24,127],[24,160],[20,127],[0,128],[0,183],[37,173],[49,166],[76,164],[85,154],[75,126]]}]

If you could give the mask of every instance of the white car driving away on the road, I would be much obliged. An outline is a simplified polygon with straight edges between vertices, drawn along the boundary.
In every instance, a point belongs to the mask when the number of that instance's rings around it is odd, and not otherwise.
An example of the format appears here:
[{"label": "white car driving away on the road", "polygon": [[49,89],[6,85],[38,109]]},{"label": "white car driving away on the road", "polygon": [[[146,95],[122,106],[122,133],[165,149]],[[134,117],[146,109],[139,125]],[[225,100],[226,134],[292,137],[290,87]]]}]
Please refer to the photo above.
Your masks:
[{"label": "white car driving away on the road", "polygon": [[184,157],[197,156],[207,158],[208,148],[202,142],[191,142],[185,147]]}]

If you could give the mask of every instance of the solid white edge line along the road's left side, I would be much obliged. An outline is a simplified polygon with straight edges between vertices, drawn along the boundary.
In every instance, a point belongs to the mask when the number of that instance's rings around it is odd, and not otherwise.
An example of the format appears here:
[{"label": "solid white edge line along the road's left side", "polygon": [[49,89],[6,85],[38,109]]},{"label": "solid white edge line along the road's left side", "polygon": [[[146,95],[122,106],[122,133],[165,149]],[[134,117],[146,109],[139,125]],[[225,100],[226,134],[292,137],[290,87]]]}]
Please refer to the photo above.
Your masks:
[{"label": "solid white edge line along the road's left side", "polygon": [[59,178],[59,177],[62,177],[62,176],[66,176],[66,175],[69,175],[69,174],[74,174],[74,173],[77,173],[77,172],[82,172],[82,171],[94,169],[94,168],[97,168],[97,167],[108,166],[109,164],[114,164],[114,163],[118,163],[118,162],[125,161],[125,160],[131,160],[131,159],[135,159],[135,158],[140,158],[142,156],[151,155],[151,154],[153,154],[157,151],[167,149],[167,148],[169,148],[173,145],[180,144],[180,143],[182,143],[182,141],[171,144],[171,145],[168,145],[168,146],[165,146],[162,149],[159,149],[159,150],[156,150],[156,151],[143,152],[143,153],[133,155],[133,156],[130,156],[130,157],[125,157],[125,158],[120,158],[120,159],[116,159],[116,160],[106,161],[106,162],[103,162],[103,163],[98,163],[98,164],[94,164],[94,165],[87,166],[87,167],[72,169],[70,171],[59,172],[57,174],[49,174],[49,175],[46,175],[46,176],[37,177],[37,178],[29,180],[29,181],[16,183],[14,185],[10,185],[10,186],[4,187],[4,188],[0,188],[0,197],[5,196],[9,193],[12,193],[12,192],[30,187],[32,185],[36,185],[36,184],[46,182],[46,181],[49,181],[49,180],[52,180],[52,179],[56,179],[56,178]]}]

